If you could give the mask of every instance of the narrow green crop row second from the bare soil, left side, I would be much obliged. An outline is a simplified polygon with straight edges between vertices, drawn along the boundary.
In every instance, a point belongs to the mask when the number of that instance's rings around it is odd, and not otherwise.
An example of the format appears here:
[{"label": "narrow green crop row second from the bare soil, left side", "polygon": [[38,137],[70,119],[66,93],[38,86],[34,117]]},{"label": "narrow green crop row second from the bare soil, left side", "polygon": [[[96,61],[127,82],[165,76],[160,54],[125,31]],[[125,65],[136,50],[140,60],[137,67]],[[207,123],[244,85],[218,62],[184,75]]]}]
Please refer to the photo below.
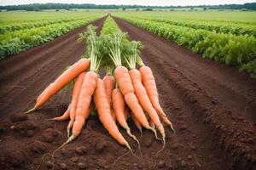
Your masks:
[{"label": "narrow green crop row second from the bare soil, left side", "polygon": [[35,27],[41,27],[41,26],[48,26],[51,24],[58,24],[63,22],[71,22],[75,20],[81,20],[81,19],[61,19],[61,20],[32,20],[32,21],[26,21],[24,23],[14,23],[11,21],[10,23],[4,23],[4,25],[0,26],[0,34],[4,34],[9,31],[19,31],[24,29],[31,29]]}]

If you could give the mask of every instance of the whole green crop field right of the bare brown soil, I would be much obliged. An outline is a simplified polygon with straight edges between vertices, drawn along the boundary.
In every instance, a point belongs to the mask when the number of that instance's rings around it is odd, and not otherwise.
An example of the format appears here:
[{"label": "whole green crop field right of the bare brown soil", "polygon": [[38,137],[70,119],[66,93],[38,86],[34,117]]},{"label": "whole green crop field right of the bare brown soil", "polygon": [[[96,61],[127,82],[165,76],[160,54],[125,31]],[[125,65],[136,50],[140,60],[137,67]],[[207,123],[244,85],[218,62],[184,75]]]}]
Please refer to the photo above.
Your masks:
[{"label": "whole green crop field right of the bare brown soil", "polygon": [[256,77],[256,23],[253,21],[256,19],[255,14],[115,13],[116,16],[145,30],[177,42],[194,53],[202,54],[204,58],[236,65],[241,71],[247,71],[251,77]]}]

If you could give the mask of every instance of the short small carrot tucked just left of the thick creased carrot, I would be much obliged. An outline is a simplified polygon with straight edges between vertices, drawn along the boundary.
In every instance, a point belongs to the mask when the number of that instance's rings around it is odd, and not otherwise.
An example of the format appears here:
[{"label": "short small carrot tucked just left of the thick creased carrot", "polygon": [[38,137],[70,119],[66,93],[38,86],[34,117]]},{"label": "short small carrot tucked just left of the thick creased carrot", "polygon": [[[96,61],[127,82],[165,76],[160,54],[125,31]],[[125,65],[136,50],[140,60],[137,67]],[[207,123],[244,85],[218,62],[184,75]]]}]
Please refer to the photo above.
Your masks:
[{"label": "short small carrot tucked just left of the thick creased carrot", "polygon": [[125,118],[125,99],[124,99],[123,95],[121,94],[121,92],[119,91],[119,88],[113,89],[112,100],[113,100],[113,111],[114,111],[114,114],[117,118],[117,121],[119,122],[121,127],[125,128],[126,133],[129,136],[131,136],[132,139],[137,141],[137,144],[140,148],[139,141],[137,140],[136,136],[134,136],[131,133],[131,129],[130,129],[130,127],[128,126],[128,124],[126,122],[126,118]]}]

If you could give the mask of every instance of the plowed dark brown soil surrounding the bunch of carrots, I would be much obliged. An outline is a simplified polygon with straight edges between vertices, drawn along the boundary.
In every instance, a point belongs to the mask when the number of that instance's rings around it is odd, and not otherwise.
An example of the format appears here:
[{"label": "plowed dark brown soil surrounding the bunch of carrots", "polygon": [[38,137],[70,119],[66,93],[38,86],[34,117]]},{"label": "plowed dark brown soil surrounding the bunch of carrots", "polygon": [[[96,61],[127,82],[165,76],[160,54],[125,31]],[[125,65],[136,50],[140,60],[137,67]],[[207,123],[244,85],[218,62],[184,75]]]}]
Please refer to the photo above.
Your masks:
[{"label": "plowed dark brown soil surrounding the bunch of carrots", "polygon": [[[256,168],[256,82],[236,68],[201,59],[198,54],[115,18],[131,40],[143,42],[142,57],[156,77],[160,102],[176,133],[166,127],[166,148],[154,134],[141,135],[142,158],[127,153],[90,117],[73,143],[50,156],[67,140],[61,115],[71,91],[61,91],[47,105],[25,116],[42,90],[84,54],[77,42],[85,26],[52,42],[0,62],[1,169],[254,169]],[[93,22],[101,29],[104,19]],[[11,128],[12,127],[12,128]],[[137,144],[121,130],[132,149]],[[44,157],[43,157],[44,156]],[[119,157],[119,161],[114,161]],[[44,159],[42,159],[44,158]],[[54,164],[53,164],[54,162]]]}]

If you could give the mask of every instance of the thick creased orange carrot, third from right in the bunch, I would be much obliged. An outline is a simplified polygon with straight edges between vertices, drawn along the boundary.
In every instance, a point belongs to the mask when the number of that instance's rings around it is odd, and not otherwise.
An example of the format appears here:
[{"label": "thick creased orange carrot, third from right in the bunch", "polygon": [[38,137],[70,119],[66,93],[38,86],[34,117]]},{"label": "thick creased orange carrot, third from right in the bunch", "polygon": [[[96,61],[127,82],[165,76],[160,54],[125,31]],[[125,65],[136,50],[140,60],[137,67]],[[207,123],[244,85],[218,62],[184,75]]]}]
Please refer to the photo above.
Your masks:
[{"label": "thick creased orange carrot, third from right in the bunch", "polygon": [[114,77],[119,83],[119,89],[125,96],[125,103],[129,106],[137,121],[140,122],[143,127],[154,132],[157,138],[156,131],[149,126],[147,117],[144,114],[143,108],[139,105],[136,95],[134,94],[134,88],[131,83],[131,77],[128,70],[124,66],[119,66],[114,71]]}]

